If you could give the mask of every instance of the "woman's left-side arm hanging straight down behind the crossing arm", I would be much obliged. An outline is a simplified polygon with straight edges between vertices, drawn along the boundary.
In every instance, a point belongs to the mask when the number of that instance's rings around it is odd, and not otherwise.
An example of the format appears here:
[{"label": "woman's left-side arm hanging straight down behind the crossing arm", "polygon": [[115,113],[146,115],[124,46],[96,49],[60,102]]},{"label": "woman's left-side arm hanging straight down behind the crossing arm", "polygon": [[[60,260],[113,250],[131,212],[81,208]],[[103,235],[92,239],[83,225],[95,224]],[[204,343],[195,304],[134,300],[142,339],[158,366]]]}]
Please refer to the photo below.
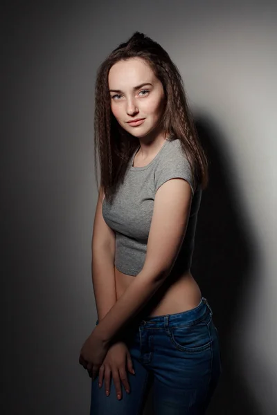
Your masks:
[{"label": "woman's left-side arm hanging straight down behind the crossing arm", "polygon": [[116,239],[102,216],[102,187],[98,194],[91,241],[91,276],[99,322],[116,303],[114,255]]}]

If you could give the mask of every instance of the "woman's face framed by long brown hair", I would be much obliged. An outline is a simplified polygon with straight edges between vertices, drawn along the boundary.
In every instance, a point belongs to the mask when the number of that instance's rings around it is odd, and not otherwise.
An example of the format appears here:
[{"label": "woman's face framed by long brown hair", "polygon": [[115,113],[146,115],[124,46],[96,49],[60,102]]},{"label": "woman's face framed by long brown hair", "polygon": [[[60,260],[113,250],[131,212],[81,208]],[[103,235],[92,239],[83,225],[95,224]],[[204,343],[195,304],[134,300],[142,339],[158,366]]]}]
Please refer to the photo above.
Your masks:
[{"label": "woman's face framed by long brown hair", "polygon": [[[136,137],[152,131],[163,114],[163,84],[141,58],[116,62],[109,70],[111,111],[123,129]],[[138,124],[128,121],[143,118]]]}]

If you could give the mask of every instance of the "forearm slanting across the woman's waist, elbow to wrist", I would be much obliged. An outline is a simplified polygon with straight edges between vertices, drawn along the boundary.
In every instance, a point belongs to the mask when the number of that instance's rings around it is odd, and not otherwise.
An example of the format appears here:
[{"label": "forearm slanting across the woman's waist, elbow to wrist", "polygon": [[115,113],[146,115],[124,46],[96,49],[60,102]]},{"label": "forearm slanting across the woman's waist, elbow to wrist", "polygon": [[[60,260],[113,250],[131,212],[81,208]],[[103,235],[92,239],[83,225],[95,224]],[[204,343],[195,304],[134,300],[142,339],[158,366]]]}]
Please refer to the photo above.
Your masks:
[{"label": "forearm slanting across the woman's waist, elbow to wrist", "polygon": [[96,326],[94,330],[97,335],[105,342],[114,340],[126,324],[148,304],[165,279],[166,275],[159,278],[150,277],[146,270],[142,270]]}]

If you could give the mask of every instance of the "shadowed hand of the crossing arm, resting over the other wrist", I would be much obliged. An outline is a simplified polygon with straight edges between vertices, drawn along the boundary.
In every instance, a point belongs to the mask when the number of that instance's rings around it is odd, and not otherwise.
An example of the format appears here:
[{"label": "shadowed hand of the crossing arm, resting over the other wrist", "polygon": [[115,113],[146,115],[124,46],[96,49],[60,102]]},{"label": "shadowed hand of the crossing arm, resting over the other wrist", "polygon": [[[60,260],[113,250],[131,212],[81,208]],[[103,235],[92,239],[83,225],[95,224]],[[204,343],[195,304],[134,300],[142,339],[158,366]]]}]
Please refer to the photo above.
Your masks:
[{"label": "shadowed hand of the crossing arm, resting over the other wrist", "polygon": [[100,339],[94,332],[89,335],[82,345],[79,363],[84,369],[91,371],[93,378],[96,378],[108,349],[109,344]]}]

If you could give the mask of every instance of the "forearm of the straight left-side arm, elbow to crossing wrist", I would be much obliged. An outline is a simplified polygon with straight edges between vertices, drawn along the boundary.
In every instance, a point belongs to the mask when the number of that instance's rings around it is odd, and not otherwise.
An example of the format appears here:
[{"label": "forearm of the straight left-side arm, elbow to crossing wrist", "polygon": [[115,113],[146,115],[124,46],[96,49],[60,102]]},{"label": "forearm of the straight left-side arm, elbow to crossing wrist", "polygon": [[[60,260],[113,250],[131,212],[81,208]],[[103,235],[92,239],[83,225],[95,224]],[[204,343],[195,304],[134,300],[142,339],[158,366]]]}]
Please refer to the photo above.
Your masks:
[{"label": "forearm of the straight left-side arm, elbow to crossing wrist", "polygon": [[114,273],[114,252],[93,248],[91,277],[99,322],[116,304],[116,282]]}]

